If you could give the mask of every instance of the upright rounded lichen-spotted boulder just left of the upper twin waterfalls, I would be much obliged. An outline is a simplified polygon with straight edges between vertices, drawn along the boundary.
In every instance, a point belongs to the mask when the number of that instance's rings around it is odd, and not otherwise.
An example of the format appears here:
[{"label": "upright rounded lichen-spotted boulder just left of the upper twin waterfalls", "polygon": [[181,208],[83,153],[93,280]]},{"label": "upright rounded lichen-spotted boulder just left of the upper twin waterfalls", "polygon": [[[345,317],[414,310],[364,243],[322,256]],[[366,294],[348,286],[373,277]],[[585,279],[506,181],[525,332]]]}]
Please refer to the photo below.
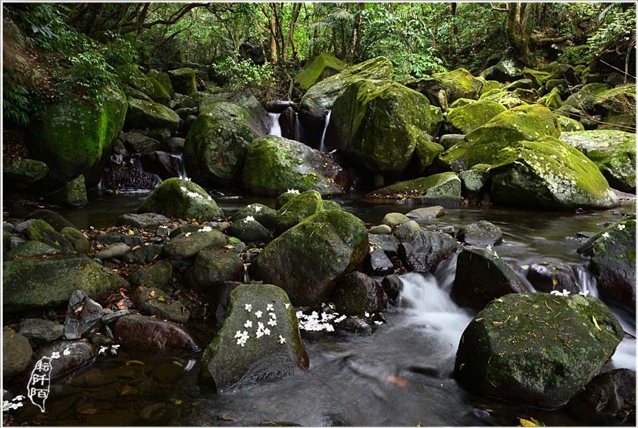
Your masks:
[{"label": "upright rounded lichen-spotted boulder just left of the upper twin waterfalls", "polygon": [[235,184],[248,146],[257,137],[249,120],[246,110],[231,103],[215,103],[202,111],[184,144],[189,177],[202,184]]}]

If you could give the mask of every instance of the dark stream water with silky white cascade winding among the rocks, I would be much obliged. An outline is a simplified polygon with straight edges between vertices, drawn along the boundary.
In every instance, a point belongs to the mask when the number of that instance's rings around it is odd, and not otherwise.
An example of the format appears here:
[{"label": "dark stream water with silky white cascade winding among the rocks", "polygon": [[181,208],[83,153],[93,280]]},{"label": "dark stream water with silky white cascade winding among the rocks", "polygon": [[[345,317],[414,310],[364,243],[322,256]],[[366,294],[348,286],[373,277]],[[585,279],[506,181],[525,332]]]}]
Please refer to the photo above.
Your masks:
[{"label": "dark stream water with silky white cascade winding among the rocks", "polygon": [[[344,210],[377,224],[387,212],[412,206],[368,203],[361,195],[336,199]],[[137,209],[145,194],[99,194],[82,210],[62,212],[79,227],[113,225],[123,212]],[[274,199],[213,194],[231,214],[248,203],[274,206]],[[19,205],[5,214],[24,216]],[[621,207],[630,211],[633,207]],[[461,225],[478,220],[495,223],[504,242],[495,250],[518,264],[575,262],[585,264],[570,239],[578,231],[598,231],[617,219],[613,210],[582,214],[528,212],[501,208],[458,207],[425,222]],[[518,425],[534,417],[546,425],[591,425],[569,410],[540,410],[512,405],[461,388],[451,376],[462,331],[474,313],[449,297],[456,257],[434,275],[402,275],[397,307],[372,336],[326,333],[305,338],[311,362],[307,373],[261,383],[238,392],[215,394],[197,381],[193,356],[163,357],[121,351],[99,357],[62,381],[54,382],[47,412],[25,406],[14,412],[16,423],[29,425]],[[580,284],[595,294],[595,281],[582,268]],[[635,336],[635,320],[613,309],[625,331]],[[604,370],[635,369],[636,343],[626,338]],[[137,360],[134,364],[127,364]],[[142,364],[139,364],[141,362]],[[5,388],[10,387],[5,384]],[[23,393],[16,390],[15,393]],[[606,420],[603,424],[614,424]]]}]

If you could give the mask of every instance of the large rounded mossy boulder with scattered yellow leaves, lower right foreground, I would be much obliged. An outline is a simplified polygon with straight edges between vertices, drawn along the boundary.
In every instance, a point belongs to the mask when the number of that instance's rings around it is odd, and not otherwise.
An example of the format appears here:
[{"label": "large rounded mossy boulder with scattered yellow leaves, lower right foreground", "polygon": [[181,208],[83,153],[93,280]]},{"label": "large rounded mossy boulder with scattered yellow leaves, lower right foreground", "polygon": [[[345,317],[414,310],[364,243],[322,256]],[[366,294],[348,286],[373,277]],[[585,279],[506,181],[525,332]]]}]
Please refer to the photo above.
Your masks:
[{"label": "large rounded mossy boulder with scattered yellow leaves, lower right foreground", "polygon": [[454,375],[488,396],[556,408],[598,373],[622,337],[595,297],[508,294],[466,327]]}]

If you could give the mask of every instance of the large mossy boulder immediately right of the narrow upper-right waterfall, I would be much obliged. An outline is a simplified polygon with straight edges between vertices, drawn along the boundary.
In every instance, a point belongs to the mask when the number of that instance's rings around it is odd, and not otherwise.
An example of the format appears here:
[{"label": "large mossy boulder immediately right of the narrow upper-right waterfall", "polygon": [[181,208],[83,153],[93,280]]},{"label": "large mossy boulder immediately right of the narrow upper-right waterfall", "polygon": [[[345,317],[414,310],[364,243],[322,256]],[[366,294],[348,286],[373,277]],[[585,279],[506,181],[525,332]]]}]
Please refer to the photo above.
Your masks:
[{"label": "large mossy boulder immediately right of the narrow upper-right waterfall", "polygon": [[[424,95],[393,81],[359,79],[335,100],[326,135],[327,144],[364,168],[401,173],[416,145],[430,141],[429,131]],[[427,144],[422,149],[427,151]]]}]

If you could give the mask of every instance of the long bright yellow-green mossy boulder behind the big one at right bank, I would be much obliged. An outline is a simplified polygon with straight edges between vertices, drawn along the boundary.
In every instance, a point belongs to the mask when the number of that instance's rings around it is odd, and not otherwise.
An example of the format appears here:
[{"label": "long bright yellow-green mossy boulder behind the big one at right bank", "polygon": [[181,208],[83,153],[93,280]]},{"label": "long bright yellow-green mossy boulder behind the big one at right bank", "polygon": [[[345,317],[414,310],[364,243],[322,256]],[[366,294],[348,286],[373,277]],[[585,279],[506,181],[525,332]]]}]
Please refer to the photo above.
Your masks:
[{"label": "long bright yellow-green mossy boulder behind the big one at right bank", "polygon": [[443,152],[440,162],[452,171],[464,171],[475,164],[491,164],[499,151],[512,142],[560,136],[560,125],[543,105],[521,105],[500,114],[467,134]]}]

